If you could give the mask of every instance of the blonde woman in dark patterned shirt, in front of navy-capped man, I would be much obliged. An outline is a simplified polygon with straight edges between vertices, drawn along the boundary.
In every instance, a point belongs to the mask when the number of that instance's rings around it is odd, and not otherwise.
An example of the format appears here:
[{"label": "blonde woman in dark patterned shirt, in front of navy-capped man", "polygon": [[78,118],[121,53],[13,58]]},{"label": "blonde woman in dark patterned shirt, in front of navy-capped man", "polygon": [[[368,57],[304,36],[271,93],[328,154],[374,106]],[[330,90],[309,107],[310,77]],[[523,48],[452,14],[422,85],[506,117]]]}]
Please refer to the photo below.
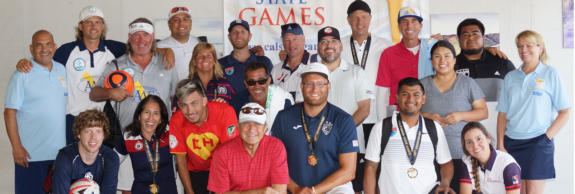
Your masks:
[{"label": "blonde woman in dark patterned shirt, in front of navy-capped man", "polygon": [[188,78],[196,78],[202,82],[202,91],[208,101],[229,104],[236,95],[232,85],[224,78],[221,65],[216,58],[216,48],[210,43],[201,42],[194,47]]}]

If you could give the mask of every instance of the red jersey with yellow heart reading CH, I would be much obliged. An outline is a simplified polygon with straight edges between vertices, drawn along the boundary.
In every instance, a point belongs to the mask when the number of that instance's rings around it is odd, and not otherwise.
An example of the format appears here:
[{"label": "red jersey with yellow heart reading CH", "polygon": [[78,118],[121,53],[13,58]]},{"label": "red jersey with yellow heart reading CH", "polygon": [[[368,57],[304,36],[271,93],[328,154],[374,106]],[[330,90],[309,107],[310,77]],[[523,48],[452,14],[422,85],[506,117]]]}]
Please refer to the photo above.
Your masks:
[{"label": "red jersey with yellow heart reading CH", "polygon": [[170,120],[170,153],[187,153],[190,171],[209,171],[214,149],[237,135],[232,106],[208,102],[208,118],[202,126],[187,121],[178,110]]}]

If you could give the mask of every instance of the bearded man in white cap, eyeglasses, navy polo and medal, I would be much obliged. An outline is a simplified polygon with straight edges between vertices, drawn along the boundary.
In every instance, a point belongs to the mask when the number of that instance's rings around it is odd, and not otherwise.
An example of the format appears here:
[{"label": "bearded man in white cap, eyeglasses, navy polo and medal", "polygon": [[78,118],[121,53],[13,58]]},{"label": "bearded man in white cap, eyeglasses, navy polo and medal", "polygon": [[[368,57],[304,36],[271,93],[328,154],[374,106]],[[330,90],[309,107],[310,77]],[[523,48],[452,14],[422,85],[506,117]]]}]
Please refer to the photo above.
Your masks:
[{"label": "bearded man in white cap, eyeglasses, navy polo and medal", "polygon": [[285,145],[293,194],[354,193],[357,133],[351,115],[327,102],[329,74],[323,64],[304,66],[304,101],[281,110],[271,128]]}]

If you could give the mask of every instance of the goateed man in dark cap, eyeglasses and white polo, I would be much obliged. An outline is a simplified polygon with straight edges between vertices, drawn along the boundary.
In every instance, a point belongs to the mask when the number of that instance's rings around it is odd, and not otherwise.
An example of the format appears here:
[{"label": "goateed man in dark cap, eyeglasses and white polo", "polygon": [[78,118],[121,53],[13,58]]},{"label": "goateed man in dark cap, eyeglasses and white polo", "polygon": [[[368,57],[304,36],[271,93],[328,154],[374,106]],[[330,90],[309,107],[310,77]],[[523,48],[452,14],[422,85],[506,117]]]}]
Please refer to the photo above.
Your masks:
[{"label": "goateed man in dark cap, eyeglasses and white polo", "polygon": [[[321,63],[327,66],[331,72],[331,95],[328,96],[328,101],[342,108],[354,118],[359,141],[356,165],[363,169],[365,138],[363,138],[362,122],[369,115],[370,102],[375,101],[374,85],[369,84],[366,74],[360,66],[350,64],[340,57],[343,44],[340,41],[338,29],[329,26],[324,27],[318,31],[317,38],[319,39],[317,53],[321,57]],[[296,93],[296,101],[301,100],[301,93]],[[361,184],[363,173],[358,173],[354,183]]]}]

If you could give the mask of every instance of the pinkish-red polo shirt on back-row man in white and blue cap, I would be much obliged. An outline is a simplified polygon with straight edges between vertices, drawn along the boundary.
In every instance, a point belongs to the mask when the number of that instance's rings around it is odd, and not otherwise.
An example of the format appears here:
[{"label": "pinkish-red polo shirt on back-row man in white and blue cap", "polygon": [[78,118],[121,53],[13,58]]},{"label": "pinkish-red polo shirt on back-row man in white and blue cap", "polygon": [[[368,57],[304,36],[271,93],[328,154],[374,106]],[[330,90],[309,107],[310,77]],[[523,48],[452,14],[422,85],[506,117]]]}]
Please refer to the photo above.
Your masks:
[{"label": "pinkish-red polo shirt on back-row man in white and blue cap", "polygon": [[418,77],[418,62],[419,50],[417,51],[417,54],[413,55],[413,52],[403,45],[403,39],[401,39],[401,42],[388,47],[381,53],[375,85],[390,88],[389,105],[397,104],[397,84],[401,79],[406,77]]}]

